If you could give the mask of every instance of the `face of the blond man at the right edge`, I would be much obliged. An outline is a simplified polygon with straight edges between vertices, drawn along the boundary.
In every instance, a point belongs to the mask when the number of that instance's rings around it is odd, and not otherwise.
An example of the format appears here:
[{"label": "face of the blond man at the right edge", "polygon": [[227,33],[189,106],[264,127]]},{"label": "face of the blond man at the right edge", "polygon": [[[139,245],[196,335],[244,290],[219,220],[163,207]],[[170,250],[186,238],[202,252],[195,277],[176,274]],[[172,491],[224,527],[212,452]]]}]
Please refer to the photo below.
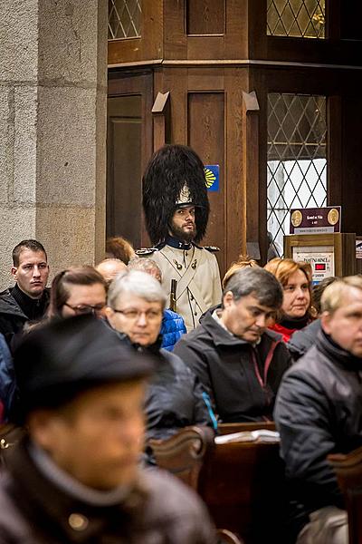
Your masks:
[{"label": "face of the blond man at the right edge", "polygon": [[342,305],[321,316],[324,331],[350,354],[362,358],[362,291],[346,287]]}]

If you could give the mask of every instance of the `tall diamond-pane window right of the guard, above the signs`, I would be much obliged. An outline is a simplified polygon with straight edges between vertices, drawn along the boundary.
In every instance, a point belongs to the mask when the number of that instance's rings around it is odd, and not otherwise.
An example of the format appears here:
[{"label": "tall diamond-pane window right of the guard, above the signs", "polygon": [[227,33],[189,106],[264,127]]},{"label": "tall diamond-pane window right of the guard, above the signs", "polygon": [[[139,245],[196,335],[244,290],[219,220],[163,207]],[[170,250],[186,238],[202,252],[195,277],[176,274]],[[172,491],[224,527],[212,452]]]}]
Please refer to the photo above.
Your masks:
[{"label": "tall diamond-pane window right of the guard, above the signs", "polygon": [[282,257],[291,208],[327,205],[326,97],[268,94],[267,222]]}]

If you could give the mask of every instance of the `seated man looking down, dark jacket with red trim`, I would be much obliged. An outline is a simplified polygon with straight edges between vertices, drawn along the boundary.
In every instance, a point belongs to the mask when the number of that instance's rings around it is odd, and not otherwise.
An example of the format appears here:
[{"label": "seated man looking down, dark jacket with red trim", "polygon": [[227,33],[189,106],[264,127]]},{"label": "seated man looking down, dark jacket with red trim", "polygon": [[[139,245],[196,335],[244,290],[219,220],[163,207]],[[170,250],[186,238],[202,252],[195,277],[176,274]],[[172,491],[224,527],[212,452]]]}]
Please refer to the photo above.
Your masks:
[{"label": "seated man looking down, dark jacket with red trim", "polygon": [[207,312],[175,346],[224,423],[272,418],[281,376],[290,365],[281,335],[267,329],[281,302],[281,285],[270,272],[237,270],[224,286],[222,308]]}]

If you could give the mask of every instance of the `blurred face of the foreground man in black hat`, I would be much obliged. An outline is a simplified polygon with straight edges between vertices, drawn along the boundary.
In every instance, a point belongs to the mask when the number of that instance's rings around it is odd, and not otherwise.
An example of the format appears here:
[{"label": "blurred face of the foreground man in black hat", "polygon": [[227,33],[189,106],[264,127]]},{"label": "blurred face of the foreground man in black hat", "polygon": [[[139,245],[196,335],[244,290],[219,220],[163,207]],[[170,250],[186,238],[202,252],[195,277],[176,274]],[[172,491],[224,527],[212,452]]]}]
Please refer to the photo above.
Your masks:
[{"label": "blurred face of the foreground man in black hat", "polygon": [[104,491],[127,485],[143,450],[144,392],[144,383],[134,381],[81,393],[62,410],[33,413],[31,435],[82,484]]}]

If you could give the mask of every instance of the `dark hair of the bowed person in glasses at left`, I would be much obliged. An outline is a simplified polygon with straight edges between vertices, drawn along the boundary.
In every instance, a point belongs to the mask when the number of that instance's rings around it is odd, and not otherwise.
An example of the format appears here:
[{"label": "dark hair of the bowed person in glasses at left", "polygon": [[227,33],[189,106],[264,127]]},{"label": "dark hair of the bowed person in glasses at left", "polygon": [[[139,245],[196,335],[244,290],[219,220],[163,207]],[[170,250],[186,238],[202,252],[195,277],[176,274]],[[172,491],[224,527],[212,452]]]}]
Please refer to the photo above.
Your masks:
[{"label": "dark hair of the bowed person in glasses at left", "polygon": [[70,297],[69,286],[94,286],[101,284],[107,290],[104,277],[93,267],[72,267],[63,270],[52,280],[48,317],[62,316],[62,306]]}]

